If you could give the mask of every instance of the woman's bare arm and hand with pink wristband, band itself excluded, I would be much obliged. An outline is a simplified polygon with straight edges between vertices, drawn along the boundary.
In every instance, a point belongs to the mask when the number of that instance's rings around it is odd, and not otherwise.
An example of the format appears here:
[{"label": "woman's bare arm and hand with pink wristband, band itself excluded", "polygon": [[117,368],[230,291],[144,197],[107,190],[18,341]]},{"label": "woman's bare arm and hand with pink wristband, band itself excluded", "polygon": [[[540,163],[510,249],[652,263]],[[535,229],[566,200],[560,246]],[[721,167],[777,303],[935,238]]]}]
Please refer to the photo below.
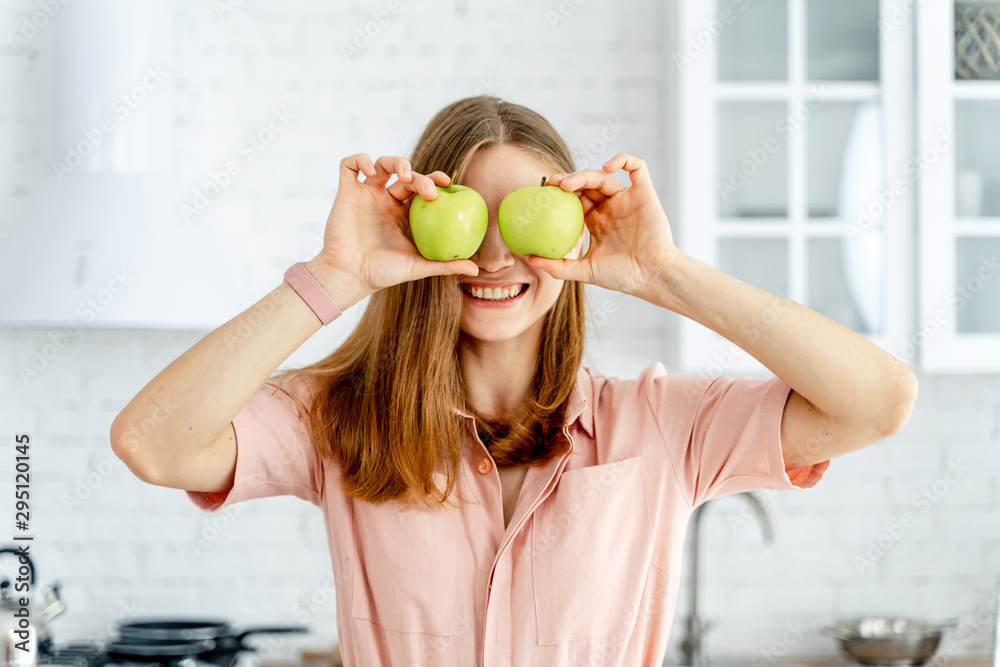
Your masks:
[{"label": "woman's bare arm and hand with pink wristband, band itself excluded", "polygon": [[[358,180],[361,174],[364,182]],[[402,232],[406,202],[418,189],[434,199],[435,184],[450,182],[446,174],[418,174],[401,157],[372,163],[358,153],[341,160],[339,175],[323,250],[306,269],[341,310],[404,281],[479,271],[469,260],[424,259]],[[397,180],[387,185],[393,175]],[[112,423],[112,449],[151,484],[228,490],[237,457],[233,418],[320,326],[312,309],[282,282],[154,377]]]}]

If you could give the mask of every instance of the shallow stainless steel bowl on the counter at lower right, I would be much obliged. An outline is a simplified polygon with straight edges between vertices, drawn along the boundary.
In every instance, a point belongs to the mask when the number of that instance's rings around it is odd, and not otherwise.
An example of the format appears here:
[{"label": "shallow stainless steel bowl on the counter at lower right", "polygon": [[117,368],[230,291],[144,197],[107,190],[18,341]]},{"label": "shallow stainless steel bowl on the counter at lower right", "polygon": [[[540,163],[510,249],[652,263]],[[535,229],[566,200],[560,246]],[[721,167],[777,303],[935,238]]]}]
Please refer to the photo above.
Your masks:
[{"label": "shallow stainless steel bowl on the counter at lower right", "polygon": [[862,665],[923,665],[934,657],[944,631],[954,621],[932,623],[909,618],[858,618],[821,628],[840,641],[844,655]]}]

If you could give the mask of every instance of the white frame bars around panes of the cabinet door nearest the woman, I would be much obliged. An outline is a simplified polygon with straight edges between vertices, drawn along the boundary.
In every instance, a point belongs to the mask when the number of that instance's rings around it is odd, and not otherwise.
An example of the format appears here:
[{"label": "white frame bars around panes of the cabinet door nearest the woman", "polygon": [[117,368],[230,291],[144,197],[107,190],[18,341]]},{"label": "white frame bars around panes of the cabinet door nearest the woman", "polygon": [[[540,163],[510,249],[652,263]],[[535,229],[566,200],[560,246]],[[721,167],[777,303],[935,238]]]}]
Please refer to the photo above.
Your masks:
[{"label": "white frame bars around panes of the cabinet door nearest the woman", "polygon": [[[879,80],[876,82],[822,82],[831,100],[877,99],[882,119],[882,155],[886,184],[893,183],[914,155],[914,20],[905,13],[908,0],[880,0]],[[932,3],[931,3],[932,4]],[[745,238],[785,238],[789,242],[789,293],[799,303],[808,292],[807,243],[810,238],[843,238],[846,220],[810,222],[806,210],[807,128],[787,139],[789,150],[788,219],[768,222],[726,223],[716,211],[715,180],[718,170],[718,102],[720,100],[787,100],[789,111],[798,109],[820,82],[805,79],[807,0],[788,0],[788,79],[779,82],[719,82],[718,39],[702,49],[697,58],[681,63],[689,38],[719,21],[726,8],[735,5],[723,0],[680,0],[676,7],[678,53],[671,54],[668,67],[675,68],[677,80],[677,168],[678,215],[675,225],[679,248],[688,255],[718,266],[718,241]],[[901,13],[902,12],[902,13]],[[667,13],[669,17],[669,13]],[[888,17],[902,17],[897,23],[883,24]],[[724,23],[722,24],[725,25]],[[724,29],[724,27],[723,27]],[[906,343],[912,330],[916,295],[913,291],[913,257],[916,229],[917,183],[909,183],[902,195],[887,207],[884,225],[883,331],[864,334],[869,340],[907,363]],[[808,304],[807,304],[808,305]],[[766,316],[766,314],[762,314]],[[677,329],[678,364],[684,372],[699,374],[766,374],[769,371],[738,346],[687,318]]]}]

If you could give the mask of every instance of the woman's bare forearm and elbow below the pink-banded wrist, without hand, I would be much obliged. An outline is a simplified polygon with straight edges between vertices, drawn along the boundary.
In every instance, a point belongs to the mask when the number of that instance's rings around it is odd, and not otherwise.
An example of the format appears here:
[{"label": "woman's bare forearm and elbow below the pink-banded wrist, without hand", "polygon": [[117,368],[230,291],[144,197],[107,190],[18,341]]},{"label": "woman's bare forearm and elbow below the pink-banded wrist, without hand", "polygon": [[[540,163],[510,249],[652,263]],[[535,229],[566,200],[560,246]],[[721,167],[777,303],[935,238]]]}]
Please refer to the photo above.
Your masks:
[{"label": "woman's bare forearm and elbow below the pink-banded wrist, without hand", "polygon": [[[366,296],[319,259],[306,268],[342,310]],[[150,484],[228,489],[236,468],[233,417],[321,325],[282,282],[195,343],[129,401],[111,424],[115,454]]]}]

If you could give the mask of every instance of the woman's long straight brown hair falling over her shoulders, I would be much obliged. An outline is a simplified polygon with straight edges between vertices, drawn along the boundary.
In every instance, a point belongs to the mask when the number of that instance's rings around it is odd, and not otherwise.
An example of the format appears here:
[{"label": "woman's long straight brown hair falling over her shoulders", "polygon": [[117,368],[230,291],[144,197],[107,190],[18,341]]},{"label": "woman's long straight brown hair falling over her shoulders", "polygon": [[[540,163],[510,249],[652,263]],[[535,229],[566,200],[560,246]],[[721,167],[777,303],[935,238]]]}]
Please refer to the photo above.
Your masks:
[{"label": "woman's long straight brown hair falling over her shoulders", "polygon": [[[545,118],[489,96],[439,111],[410,163],[423,174],[457,172],[455,183],[461,183],[477,151],[501,144],[528,151],[554,171],[575,170],[569,148]],[[506,423],[484,419],[467,401],[457,353],[459,280],[432,276],[376,292],[332,354],[274,378],[310,382],[313,439],[323,456],[340,464],[342,488],[354,498],[378,503],[409,495],[428,508],[453,506],[448,497],[467,428],[455,408],[476,418],[497,465],[542,465],[571,448],[562,426],[584,353],[583,283],[566,281],[546,314],[521,417]]]}]

